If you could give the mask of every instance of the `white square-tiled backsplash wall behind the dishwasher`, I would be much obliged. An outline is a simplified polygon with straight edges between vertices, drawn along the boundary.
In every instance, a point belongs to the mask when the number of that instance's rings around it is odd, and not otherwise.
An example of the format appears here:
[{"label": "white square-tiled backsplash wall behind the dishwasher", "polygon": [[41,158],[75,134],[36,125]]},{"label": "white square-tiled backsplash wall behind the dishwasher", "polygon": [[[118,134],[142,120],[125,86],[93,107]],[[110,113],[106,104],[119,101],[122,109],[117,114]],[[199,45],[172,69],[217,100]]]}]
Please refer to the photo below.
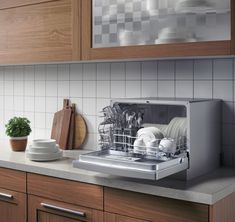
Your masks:
[{"label": "white square-tiled backsplash wall behind the dishwasher", "polygon": [[49,138],[53,114],[62,108],[63,98],[70,98],[87,121],[84,148],[97,149],[99,112],[110,98],[219,98],[225,100],[224,162],[235,166],[234,63],[207,58],[0,67],[0,129],[14,115],[23,115],[31,121],[31,139]]}]

